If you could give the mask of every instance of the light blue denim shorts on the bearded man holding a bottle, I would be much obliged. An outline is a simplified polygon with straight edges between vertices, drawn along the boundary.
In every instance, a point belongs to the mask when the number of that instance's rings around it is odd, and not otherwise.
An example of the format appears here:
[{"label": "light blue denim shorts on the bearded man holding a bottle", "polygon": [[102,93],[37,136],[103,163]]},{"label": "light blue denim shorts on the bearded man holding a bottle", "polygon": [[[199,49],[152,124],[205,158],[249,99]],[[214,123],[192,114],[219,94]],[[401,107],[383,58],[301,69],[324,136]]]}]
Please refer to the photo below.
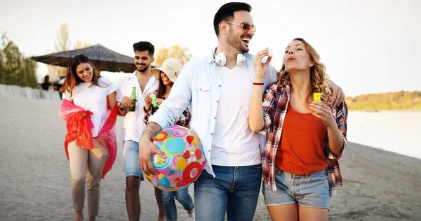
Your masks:
[{"label": "light blue denim shorts on the bearded man holding a bottle", "polygon": [[135,141],[123,141],[124,171],[128,176],[139,176],[145,180],[143,172],[139,167],[139,143]]}]

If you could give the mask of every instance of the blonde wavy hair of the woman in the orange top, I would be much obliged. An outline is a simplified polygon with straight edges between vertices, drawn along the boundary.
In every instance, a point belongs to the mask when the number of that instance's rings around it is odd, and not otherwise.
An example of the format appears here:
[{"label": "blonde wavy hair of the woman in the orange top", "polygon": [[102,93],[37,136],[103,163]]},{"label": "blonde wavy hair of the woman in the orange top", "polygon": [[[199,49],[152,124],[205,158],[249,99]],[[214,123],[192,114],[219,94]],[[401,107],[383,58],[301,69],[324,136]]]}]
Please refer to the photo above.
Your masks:
[{"label": "blonde wavy hair of the woman in the orange top", "polygon": [[[314,63],[314,66],[310,67],[310,80],[311,88],[309,94],[307,94],[307,101],[310,103],[313,101],[313,93],[321,94],[321,101],[325,104],[330,104],[330,101],[335,100],[332,97],[332,91],[330,90],[329,76],[326,74],[326,66],[320,62],[320,55],[316,52],[312,45],[307,43],[302,38],[294,38],[293,41],[301,41],[305,45],[305,49],[309,53],[310,61]],[[289,73],[285,71],[285,63],[282,64],[281,71],[278,74],[278,85],[283,85],[286,82],[290,82]]]}]

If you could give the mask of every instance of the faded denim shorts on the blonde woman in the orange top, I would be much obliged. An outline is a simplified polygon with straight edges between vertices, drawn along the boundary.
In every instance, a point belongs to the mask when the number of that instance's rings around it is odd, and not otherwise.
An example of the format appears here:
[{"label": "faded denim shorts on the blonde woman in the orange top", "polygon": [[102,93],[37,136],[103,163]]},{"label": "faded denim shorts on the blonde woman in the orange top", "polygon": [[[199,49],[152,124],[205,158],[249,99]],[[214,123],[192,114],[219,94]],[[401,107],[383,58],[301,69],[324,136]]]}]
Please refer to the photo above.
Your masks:
[{"label": "faded denim shorts on the blonde woman in the orange top", "polygon": [[295,175],[275,167],[276,191],[263,183],[266,206],[298,204],[312,208],[329,209],[329,183],[326,169],[310,175]]}]

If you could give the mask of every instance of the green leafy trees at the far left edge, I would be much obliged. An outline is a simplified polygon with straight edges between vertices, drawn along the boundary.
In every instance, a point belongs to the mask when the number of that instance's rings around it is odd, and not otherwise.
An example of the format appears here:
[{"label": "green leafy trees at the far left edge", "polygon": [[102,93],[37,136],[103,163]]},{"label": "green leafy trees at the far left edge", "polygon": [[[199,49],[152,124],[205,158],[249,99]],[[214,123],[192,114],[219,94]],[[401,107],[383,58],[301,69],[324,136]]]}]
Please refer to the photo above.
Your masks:
[{"label": "green leafy trees at the far left edge", "polygon": [[0,45],[0,83],[21,87],[38,87],[36,83],[36,63],[20,52],[18,45],[1,36]]}]

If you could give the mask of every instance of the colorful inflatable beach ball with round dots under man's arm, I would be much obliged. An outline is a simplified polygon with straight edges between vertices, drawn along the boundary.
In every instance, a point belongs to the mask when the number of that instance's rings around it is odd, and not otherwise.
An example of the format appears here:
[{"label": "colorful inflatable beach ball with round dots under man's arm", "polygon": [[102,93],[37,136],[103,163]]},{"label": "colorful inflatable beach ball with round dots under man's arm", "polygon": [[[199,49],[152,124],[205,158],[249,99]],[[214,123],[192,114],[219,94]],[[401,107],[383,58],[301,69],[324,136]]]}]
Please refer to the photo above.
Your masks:
[{"label": "colorful inflatable beach ball with round dots under man's arm", "polygon": [[152,164],[159,172],[145,178],[161,190],[176,191],[199,178],[206,164],[199,137],[185,127],[166,127],[156,134],[153,143],[166,153],[166,158],[152,155]]}]

